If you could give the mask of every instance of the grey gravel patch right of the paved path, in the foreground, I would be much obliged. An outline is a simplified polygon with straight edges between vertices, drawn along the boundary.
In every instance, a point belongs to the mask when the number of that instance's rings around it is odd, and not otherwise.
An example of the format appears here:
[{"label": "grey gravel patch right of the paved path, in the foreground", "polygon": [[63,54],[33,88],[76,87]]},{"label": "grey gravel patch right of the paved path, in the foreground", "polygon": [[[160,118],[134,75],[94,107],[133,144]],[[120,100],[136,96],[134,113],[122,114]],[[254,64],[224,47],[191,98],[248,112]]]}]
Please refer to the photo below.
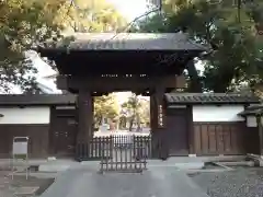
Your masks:
[{"label": "grey gravel patch right of the paved path, in the foreground", "polygon": [[240,167],[217,173],[195,173],[190,177],[210,197],[263,197],[263,169]]}]

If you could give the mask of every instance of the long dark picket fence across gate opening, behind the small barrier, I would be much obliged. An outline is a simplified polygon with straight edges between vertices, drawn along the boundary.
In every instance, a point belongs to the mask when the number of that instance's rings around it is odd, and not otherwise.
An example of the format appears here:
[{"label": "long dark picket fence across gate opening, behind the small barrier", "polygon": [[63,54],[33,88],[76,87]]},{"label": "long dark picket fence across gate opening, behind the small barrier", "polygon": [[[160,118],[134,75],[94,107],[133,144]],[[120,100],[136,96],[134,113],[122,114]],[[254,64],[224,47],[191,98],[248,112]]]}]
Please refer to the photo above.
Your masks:
[{"label": "long dark picket fence across gate opening, behind the small barrier", "polygon": [[[144,147],[139,152],[137,147]],[[151,137],[150,136],[128,136],[118,135],[111,137],[95,137],[90,143],[79,143],[76,147],[76,159],[78,161],[90,161],[113,158],[116,150],[123,151],[133,149],[133,154],[138,157],[151,158]],[[144,155],[142,155],[144,153]],[[118,157],[118,155],[117,155]]]}]

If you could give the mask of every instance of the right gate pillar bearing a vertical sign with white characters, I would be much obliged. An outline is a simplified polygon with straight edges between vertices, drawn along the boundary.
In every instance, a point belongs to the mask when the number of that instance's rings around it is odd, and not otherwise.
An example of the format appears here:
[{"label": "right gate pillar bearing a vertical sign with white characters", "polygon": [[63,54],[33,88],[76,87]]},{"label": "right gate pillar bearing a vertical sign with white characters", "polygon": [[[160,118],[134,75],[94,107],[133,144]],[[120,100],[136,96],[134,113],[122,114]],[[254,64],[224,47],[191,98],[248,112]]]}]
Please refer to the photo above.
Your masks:
[{"label": "right gate pillar bearing a vertical sign with white characters", "polygon": [[152,136],[152,157],[167,158],[168,149],[165,142],[165,121],[163,114],[163,95],[164,88],[156,88],[155,93],[150,96],[150,126]]}]

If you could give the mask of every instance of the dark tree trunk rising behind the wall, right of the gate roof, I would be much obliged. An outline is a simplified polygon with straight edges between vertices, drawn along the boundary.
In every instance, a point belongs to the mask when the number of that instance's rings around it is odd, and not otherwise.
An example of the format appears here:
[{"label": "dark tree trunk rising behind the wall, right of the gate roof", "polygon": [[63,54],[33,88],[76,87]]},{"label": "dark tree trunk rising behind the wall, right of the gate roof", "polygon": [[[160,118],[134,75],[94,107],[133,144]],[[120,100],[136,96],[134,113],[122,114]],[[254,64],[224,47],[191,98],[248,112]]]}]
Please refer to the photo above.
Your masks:
[{"label": "dark tree trunk rising behind the wall, right of the gate roof", "polygon": [[195,68],[194,60],[190,60],[186,65],[190,77],[190,92],[199,93],[202,92],[202,83],[198,76],[198,72]]}]

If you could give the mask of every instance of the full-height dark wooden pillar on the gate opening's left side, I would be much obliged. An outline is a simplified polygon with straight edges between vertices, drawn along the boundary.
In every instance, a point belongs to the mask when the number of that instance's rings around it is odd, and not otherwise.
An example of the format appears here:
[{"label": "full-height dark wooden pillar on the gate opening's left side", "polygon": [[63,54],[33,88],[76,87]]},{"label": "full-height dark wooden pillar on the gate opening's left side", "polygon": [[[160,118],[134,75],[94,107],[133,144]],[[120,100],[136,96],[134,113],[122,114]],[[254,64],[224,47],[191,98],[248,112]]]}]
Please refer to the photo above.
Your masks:
[{"label": "full-height dark wooden pillar on the gate opening's left side", "polygon": [[87,160],[90,157],[90,140],[93,137],[93,99],[87,90],[79,91],[78,119],[77,159]]}]

